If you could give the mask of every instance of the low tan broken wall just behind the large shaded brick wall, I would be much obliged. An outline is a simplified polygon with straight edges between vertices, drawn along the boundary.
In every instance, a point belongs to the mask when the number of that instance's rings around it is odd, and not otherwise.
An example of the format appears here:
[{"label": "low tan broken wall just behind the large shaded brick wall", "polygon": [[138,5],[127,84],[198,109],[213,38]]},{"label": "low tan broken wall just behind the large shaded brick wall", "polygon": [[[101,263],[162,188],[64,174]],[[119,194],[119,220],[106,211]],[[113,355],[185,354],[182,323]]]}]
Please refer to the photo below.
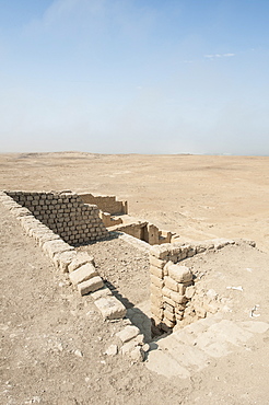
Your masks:
[{"label": "low tan broken wall just behind the large shaded brick wall", "polygon": [[95,204],[103,212],[112,215],[128,213],[127,201],[117,201],[115,196],[94,196],[90,193],[79,194],[84,204]]}]

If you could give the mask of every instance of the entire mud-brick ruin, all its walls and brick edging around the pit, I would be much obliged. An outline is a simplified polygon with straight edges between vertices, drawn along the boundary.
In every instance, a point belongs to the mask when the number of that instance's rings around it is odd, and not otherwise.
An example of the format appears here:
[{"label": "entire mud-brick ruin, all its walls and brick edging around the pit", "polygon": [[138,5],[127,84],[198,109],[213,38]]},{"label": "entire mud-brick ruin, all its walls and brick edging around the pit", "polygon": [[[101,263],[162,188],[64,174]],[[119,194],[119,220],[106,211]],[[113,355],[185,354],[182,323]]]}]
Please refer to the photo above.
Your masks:
[{"label": "entire mud-brick ruin, all its walls and brick edging around the pit", "polygon": [[145,332],[126,317],[126,306],[100,276],[94,257],[78,251],[78,246],[115,235],[147,252],[151,280],[151,313],[148,316],[151,319],[152,338],[171,334],[218,312],[220,303],[217,297],[199,292],[199,277],[186,266],[185,259],[219,251],[235,244],[234,241],[176,242],[177,234],[128,216],[127,201],[118,201],[115,196],[78,195],[70,190],[4,190],[0,193],[0,200],[55,267],[69,274],[79,293],[91,293],[104,320],[126,320],[117,336],[120,351],[132,359],[144,358]]}]

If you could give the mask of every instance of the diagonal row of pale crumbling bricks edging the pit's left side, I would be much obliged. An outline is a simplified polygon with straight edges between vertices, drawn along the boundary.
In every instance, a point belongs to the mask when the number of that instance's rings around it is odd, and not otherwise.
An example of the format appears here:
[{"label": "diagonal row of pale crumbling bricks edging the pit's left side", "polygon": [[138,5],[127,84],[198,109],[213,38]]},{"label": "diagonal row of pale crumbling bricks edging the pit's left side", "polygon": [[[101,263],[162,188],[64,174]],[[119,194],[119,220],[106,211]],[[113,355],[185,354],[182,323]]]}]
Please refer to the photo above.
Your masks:
[{"label": "diagonal row of pale crumbling bricks edging the pit's left side", "polygon": [[[125,319],[127,312],[125,305],[104,285],[92,256],[84,252],[77,252],[59,234],[36,219],[27,208],[22,207],[3,190],[0,190],[0,202],[19,220],[26,235],[36,241],[54,266],[69,274],[70,281],[80,294],[91,293],[104,321]],[[106,354],[115,356],[120,352],[128,355],[134,362],[143,361],[144,336],[129,320],[125,320],[125,328],[116,333],[117,344],[112,344]]]}]

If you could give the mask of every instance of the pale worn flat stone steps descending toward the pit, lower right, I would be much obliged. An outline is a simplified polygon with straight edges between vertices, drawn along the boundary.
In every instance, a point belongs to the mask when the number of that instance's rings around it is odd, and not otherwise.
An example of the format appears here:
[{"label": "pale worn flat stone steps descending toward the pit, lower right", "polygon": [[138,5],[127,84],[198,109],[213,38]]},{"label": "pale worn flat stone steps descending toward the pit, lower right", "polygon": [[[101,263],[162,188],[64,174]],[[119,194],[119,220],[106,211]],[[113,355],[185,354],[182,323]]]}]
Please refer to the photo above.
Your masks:
[{"label": "pale worn flat stone steps descending toward the pit, lower right", "polygon": [[254,334],[268,329],[266,322],[233,322],[217,314],[151,343],[145,366],[165,377],[187,378],[238,347],[245,349]]}]

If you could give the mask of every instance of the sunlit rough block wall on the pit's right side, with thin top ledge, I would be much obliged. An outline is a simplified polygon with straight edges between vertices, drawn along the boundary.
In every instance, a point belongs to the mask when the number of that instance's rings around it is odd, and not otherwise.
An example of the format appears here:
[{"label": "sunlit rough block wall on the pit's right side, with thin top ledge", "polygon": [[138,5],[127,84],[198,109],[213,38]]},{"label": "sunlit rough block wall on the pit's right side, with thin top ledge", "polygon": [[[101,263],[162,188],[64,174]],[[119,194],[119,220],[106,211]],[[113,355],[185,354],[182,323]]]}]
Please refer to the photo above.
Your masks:
[{"label": "sunlit rough block wall on the pit's right side, with thin top ledge", "polygon": [[[197,300],[196,279],[184,259],[220,250],[234,241],[218,239],[204,243],[166,243],[150,248],[152,334],[180,328],[214,312],[206,300]],[[210,299],[210,298],[209,298]]]}]

